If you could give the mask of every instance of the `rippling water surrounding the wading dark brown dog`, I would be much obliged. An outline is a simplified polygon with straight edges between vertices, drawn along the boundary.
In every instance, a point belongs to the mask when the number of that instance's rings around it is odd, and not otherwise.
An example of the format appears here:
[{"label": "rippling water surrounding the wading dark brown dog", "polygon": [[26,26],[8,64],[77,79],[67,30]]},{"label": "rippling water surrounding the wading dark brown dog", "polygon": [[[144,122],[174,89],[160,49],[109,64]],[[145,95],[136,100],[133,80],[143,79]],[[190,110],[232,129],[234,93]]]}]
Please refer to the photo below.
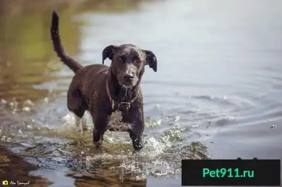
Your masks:
[{"label": "rippling water surrounding the wading dark brown dog", "polygon": [[[0,171],[34,186],[181,186],[181,159],[282,159],[282,1],[160,0],[62,9],[61,36],[83,65],[111,44],[153,51],[142,78],[145,148],[75,131],[73,76],[52,51],[50,11],[2,16]],[[110,61],[107,60],[109,65]],[[12,162],[10,162],[12,160]],[[11,172],[13,171],[13,172]]]}]

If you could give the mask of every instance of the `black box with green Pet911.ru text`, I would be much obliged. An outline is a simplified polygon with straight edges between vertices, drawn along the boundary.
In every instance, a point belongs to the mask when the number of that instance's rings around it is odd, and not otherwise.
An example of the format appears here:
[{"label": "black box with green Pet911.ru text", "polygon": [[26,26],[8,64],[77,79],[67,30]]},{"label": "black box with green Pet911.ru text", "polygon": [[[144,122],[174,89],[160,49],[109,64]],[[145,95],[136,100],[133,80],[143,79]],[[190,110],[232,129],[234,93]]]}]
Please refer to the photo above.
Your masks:
[{"label": "black box with green Pet911.ru text", "polygon": [[281,186],[281,160],[182,160],[181,181],[182,186]]}]

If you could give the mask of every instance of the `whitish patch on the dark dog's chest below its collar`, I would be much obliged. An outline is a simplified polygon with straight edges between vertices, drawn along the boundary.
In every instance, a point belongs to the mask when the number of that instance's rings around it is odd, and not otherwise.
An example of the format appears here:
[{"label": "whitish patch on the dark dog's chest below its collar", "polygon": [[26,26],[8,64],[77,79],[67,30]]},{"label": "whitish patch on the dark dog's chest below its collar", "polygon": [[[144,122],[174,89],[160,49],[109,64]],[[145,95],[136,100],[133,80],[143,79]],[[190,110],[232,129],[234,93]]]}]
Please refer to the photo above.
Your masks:
[{"label": "whitish patch on the dark dog's chest below its collar", "polygon": [[112,115],[109,117],[109,123],[107,125],[109,131],[119,131],[124,132],[131,129],[131,124],[122,122],[121,111],[112,112]]}]

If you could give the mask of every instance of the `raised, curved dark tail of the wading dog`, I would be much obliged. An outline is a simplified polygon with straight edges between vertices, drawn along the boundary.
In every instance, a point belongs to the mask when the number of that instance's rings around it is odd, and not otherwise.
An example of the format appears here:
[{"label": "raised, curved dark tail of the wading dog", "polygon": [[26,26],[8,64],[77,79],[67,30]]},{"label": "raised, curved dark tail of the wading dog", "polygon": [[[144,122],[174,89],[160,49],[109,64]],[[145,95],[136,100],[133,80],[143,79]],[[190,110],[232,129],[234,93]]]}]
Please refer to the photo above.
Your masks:
[{"label": "raised, curved dark tail of the wading dog", "polygon": [[75,73],[78,69],[83,66],[76,62],[68,53],[65,52],[65,49],[62,45],[60,34],[59,34],[59,16],[55,10],[52,11],[52,25],[50,28],[51,37],[53,41],[53,47],[57,55],[61,58],[61,61],[64,62],[71,70]]}]

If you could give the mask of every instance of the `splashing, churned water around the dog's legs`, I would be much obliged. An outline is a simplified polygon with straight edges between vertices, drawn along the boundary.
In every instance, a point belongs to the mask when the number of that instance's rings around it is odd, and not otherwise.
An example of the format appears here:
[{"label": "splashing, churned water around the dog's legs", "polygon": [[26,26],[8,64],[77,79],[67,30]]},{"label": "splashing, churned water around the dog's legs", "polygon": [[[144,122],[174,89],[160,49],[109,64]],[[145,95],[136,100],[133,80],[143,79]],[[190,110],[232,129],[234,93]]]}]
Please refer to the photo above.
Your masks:
[{"label": "splashing, churned water around the dog's legs", "polygon": [[[105,133],[101,149],[96,149],[92,145],[91,116],[85,115],[89,131],[81,134],[77,132],[74,116],[69,112],[61,119],[61,128],[41,129],[40,134],[34,137],[34,142],[18,154],[44,170],[67,169],[82,175],[93,174],[94,171],[96,174],[114,172],[121,178],[131,173],[134,180],[142,180],[148,175],[161,178],[178,176],[182,159],[210,158],[205,145],[200,142],[188,143],[181,136],[185,128],[179,125],[179,118],[168,117],[167,121],[172,119],[175,124],[159,136],[145,134],[144,149],[135,153],[127,133]],[[148,131],[155,128],[152,124],[156,124],[156,121],[162,125],[161,122],[165,120],[147,120]],[[47,135],[52,137],[47,138]]]}]

